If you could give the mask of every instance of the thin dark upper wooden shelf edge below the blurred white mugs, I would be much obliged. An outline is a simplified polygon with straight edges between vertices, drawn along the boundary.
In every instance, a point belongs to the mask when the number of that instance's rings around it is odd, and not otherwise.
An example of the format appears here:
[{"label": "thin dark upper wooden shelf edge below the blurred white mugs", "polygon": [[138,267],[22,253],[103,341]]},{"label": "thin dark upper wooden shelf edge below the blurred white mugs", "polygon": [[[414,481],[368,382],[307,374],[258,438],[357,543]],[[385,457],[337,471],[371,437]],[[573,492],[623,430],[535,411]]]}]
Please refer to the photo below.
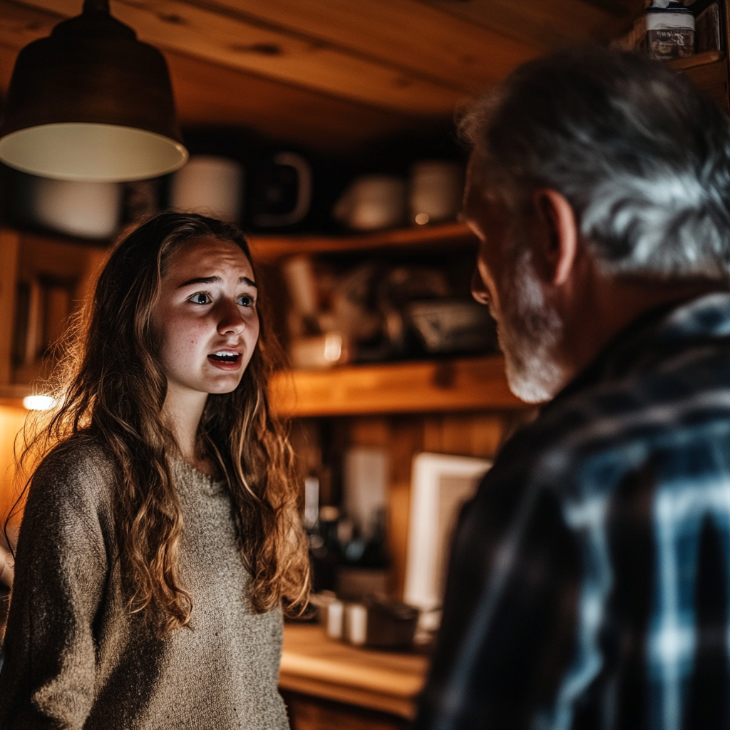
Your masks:
[{"label": "thin dark upper wooden shelf edge below the blurred white mugs", "polygon": [[442,245],[476,245],[477,238],[464,223],[444,223],[424,228],[397,228],[373,234],[342,237],[262,236],[248,237],[257,263],[271,263],[285,256],[317,253],[358,253],[393,248],[418,249]]}]

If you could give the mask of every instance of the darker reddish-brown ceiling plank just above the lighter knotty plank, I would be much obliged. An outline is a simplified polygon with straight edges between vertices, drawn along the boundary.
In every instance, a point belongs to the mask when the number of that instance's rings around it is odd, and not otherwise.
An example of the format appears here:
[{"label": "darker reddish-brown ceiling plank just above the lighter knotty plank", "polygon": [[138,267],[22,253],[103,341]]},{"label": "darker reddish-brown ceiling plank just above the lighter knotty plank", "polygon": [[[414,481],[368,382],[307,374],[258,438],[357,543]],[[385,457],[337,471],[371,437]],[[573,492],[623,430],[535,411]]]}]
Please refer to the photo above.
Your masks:
[{"label": "darker reddish-brown ceiling plank just above the lighter knotty plank", "polygon": [[504,37],[417,0],[182,1],[230,9],[470,90],[504,77],[545,47],[541,38]]}]

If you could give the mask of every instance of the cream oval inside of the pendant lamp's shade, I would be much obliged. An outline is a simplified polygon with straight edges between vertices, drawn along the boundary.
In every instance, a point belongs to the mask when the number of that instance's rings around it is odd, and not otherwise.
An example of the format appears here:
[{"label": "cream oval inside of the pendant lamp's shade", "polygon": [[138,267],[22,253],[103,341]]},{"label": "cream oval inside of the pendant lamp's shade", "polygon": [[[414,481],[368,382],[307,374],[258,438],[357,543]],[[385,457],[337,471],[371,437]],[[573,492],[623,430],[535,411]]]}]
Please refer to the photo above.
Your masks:
[{"label": "cream oval inside of the pendant lamp's shade", "polygon": [[42,124],[0,139],[0,160],[55,180],[122,183],[173,172],[188,150],[174,139],[115,124]]}]

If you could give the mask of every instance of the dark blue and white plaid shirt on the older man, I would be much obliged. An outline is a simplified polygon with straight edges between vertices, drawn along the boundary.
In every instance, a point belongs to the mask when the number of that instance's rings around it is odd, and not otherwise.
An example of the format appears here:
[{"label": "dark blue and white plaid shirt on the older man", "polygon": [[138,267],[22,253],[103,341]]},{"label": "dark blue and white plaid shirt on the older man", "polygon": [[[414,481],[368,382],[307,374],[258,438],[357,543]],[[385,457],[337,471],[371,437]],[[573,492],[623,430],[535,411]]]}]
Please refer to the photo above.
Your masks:
[{"label": "dark blue and white plaid shirt on the older man", "polygon": [[459,521],[418,730],[730,728],[730,294],[634,322]]}]

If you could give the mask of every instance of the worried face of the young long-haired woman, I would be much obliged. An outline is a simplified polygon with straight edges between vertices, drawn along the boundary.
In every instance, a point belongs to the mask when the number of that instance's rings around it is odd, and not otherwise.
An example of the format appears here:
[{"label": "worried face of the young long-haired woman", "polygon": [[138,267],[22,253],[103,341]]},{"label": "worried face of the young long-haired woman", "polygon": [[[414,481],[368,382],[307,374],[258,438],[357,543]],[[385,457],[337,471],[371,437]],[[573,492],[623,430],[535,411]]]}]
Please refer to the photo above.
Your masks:
[{"label": "worried face of the young long-haired woman", "polygon": [[258,340],[257,296],[235,243],[206,236],[172,253],[152,312],[169,389],[235,390]]}]

